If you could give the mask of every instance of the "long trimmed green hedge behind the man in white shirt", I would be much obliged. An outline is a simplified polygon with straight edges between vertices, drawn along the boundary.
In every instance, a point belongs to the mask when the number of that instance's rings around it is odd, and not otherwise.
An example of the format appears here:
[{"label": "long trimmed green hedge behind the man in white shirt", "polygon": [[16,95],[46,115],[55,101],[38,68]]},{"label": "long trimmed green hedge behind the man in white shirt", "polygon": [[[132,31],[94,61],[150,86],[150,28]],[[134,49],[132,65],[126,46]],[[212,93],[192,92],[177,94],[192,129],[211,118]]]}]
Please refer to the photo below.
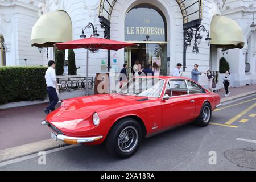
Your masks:
[{"label": "long trimmed green hedge behind the man in white shirt", "polygon": [[0,67],[0,104],[46,98],[47,67]]}]

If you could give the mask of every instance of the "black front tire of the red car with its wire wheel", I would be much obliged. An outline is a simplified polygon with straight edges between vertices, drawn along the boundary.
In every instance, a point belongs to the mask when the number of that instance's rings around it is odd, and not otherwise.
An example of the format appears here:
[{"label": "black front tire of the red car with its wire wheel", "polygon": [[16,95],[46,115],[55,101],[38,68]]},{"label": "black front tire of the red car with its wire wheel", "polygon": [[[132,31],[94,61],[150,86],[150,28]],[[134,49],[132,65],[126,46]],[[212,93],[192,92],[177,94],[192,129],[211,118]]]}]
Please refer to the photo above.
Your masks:
[{"label": "black front tire of the red car with its wire wheel", "polygon": [[[127,132],[130,135],[127,135]],[[133,118],[125,118],[110,130],[106,138],[106,148],[113,156],[125,159],[135,154],[141,141],[141,125]]]}]

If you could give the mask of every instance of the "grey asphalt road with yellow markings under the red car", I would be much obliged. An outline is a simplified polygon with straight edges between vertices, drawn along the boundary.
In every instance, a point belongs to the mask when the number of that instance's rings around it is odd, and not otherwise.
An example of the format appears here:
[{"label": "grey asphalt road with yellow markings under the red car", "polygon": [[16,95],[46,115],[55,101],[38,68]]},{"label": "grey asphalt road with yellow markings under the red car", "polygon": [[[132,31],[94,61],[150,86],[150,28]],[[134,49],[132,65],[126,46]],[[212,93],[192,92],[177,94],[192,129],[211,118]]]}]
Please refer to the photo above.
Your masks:
[{"label": "grey asphalt road with yellow markings under the red car", "polygon": [[189,124],[144,139],[129,159],[113,158],[105,146],[68,146],[48,151],[45,165],[30,155],[0,170],[256,170],[255,103],[254,96],[221,107],[208,127]]}]

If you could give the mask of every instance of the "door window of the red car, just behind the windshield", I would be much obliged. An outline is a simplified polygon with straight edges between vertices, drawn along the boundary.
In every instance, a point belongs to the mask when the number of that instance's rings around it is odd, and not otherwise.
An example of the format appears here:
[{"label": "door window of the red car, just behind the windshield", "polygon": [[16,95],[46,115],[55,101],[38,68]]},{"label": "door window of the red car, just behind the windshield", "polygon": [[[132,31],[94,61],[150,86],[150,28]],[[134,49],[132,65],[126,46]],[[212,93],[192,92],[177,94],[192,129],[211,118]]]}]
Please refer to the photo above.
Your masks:
[{"label": "door window of the red car, just behind the windshield", "polygon": [[185,80],[169,81],[172,96],[183,96],[188,94],[187,84]]}]

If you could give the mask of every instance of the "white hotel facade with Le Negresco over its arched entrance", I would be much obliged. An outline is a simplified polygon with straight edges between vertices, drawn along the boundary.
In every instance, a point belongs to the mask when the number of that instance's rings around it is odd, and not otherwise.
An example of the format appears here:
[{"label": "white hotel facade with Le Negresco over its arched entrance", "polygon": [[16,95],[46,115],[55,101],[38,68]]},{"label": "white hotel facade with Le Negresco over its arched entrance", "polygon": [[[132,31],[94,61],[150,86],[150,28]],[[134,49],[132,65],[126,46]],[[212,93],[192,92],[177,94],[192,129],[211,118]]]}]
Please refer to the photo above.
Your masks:
[{"label": "white hotel facade with Le Negresco over its arched entrance", "polygon": [[[108,62],[119,72],[124,63],[132,67],[135,60],[143,64],[159,59],[162,75],[171,75],[177,63],[184,64],[184,28],[200,26],[201,23],[214,40],[208,46],[205,41],[207,32],[201,31],[202,42],[197,44],[199,53],[192,53],[193,36],[185,53],[187,68],[183,76],[191,77],[194,64],[200,65],[200,71],[218,71],[219,59],[223,56],[221,49],[229,48],[225,57],[230,64],[232,85],[239,87],[256,83],[256,38],[250,29],[251,13],[255,12],[256,2],[251,0],[0,0],[0,36],[7,46],[5,65],[25,65],[24,59],[27,59],[27,65],[46,65],[48,60],[54,59],[53,48],[43,48],[40,54],[38,48],[31,47],[31,32],[32,44],[49,47],[55,42],[79,39],[82,28],[91,22],[103,38],[108,32],[105,30],[104,34],[99,22],[98,16],[103,16],[106,24],[111,23],[110,39],[138,43],[140,46],[111,51],[109,57],[108,51],[90,53],[90,76],[108,72]],[[41,14],[43,16],[39,19]],[[217,21],[218,18],[221,20]],[[218,32],[216,27],[222,28],[222,31]],[[91,34],[92,29],[85,30],[87,37]],[[228,43],[223,37],[228,39]],[[86,51],[76,49],[75,54],[76,65],[81,67],[79,74],[85,75]],[[245,72],[246,60],[250,63],[249,73]],[[207,85],[205,75],[200,76],[200,83]],[[222,86],[221,76],[219,86]]]}]

